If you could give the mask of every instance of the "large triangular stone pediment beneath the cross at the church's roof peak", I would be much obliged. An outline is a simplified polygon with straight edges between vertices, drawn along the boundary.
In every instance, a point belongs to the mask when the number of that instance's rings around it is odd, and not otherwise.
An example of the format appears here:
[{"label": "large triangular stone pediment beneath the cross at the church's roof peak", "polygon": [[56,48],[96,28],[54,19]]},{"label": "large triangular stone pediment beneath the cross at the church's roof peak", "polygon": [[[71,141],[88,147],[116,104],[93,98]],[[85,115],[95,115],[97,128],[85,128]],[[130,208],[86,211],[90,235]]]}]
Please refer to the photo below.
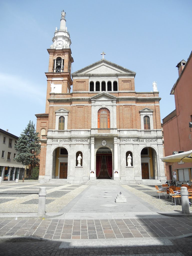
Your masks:
[{"label": "large triangular stone pediment beneath the cross at the church's roof peak", "polygon": [[74,73],[72,73],[72,77],[76,75],[93,75],[93,74],[132,74],[135,76],[135,72],[123,68],[115,63],[112,63],[108,60],[102,59],[97,61],[85,68],[82,68]]}]

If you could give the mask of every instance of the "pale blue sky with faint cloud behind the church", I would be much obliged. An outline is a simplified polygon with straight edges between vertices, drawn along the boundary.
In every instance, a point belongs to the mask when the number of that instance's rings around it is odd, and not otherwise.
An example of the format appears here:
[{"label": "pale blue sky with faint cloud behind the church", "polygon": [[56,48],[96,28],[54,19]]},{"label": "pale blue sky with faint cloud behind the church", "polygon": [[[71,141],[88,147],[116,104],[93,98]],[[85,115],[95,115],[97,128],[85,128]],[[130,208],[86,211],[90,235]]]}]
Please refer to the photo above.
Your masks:
[{"label": "pale blue sky with faint cloud behind the church", "polygon": [[72,72],[105,59],[136,72],[135,90],[157,81],[161,119],[175,109],[176,65],[192,50],[192,1],[1,1],[0,128],[17,136],[45,112],[49,54],[66,12]]}]

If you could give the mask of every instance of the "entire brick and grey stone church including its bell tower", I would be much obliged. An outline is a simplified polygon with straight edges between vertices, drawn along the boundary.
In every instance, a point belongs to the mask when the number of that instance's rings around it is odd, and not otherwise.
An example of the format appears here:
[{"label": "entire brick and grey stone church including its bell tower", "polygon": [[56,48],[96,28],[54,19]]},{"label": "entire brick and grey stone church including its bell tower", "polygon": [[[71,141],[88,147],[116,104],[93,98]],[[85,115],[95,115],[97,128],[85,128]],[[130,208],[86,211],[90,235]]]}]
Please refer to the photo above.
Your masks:
[{"label": "entire brick and grey stone church including its bell tower", "polygon": [[46,111],[36,114],[40,182],[165,181],[156,84],[153,92],[136,92],[136,73],[104,59],[104,53],[71,74],[65,12],[60,22],[48,49]]}]

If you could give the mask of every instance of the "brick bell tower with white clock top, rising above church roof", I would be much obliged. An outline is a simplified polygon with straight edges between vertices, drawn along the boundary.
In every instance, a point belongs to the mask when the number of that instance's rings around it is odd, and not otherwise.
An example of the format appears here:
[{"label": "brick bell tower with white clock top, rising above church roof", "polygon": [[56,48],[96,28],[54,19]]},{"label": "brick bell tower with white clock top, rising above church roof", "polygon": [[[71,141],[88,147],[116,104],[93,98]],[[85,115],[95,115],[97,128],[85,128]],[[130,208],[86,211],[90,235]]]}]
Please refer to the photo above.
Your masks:
[{"label": "brick bell tower with white clock top, rising above church roof", "polygon": [[[60,28],[55,28],[54,37],[52,38],[52,45],[47,49],[49,53],[49,69],[46,74],[47,77],[47,97],[46,97],[46,113],[49,113],[50,97],[53,93],[65,94],[70,93],[72,79],[71,79],[71,39],[69,31],[66,27],[66,13],[61,12]],[[51,96],[50,96],[51,95]],[[54,95],[54,98],[56,95]]]}]

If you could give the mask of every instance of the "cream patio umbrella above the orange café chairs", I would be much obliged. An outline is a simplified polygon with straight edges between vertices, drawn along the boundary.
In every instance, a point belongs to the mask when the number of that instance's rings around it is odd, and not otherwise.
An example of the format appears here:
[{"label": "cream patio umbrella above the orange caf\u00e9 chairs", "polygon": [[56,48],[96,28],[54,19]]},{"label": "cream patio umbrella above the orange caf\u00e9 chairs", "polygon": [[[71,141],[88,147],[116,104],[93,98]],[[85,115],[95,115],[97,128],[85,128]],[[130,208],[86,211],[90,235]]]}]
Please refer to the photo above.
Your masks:
[{"label": "cream patio umbrella above the orange caf\u00e9 chairs", "polygon": [[192,162],[192,150],[160,158],[162,162]]}]

